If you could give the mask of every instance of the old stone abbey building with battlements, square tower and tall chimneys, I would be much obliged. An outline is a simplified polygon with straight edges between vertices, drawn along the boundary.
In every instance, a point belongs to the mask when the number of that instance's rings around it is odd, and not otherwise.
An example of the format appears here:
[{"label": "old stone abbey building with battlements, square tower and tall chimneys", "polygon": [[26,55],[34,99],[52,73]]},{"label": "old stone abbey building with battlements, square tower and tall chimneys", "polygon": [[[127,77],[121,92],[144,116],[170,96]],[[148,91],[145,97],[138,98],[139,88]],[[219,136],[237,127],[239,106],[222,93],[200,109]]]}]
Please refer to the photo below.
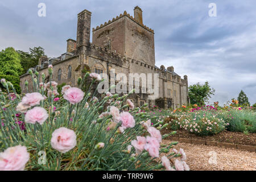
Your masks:
[{"label": "old stone abbey building with battlements, square tower and tall chimneys", "polygon": [[[188,77],[181,78],[171,65],[167,69],[164,65],[160,68],[155,66],[154,30],[143,24],[141,8],[134,8],[134,17],[124,11],[112,20],[92,28],[92,43],[91,15],[88,10],[77,15],[77,38],[67,40],[67,51],[63,55],[53,59],[41,57],[39,65],[31,69],[48,76],[48,65],[52,64],[53,81],[58,84],[65,82],[71,86],[77,85],[77,78],[82,77],[84,71],[110,75],[110,70],[114,69],[115,74],[125,73],[127,78],[129,73],[158,73],[159,98],[148,100],[147,93],[135,93],[130,97],[135,105],[148,103],[151,106],[176,109],[189,103]],[[32,90],[31,76],[26,73],[20,76],[22,92],[26,92],[26,80]],[[139,84],[140,90],[148,89]],[[154,89],[154,82],[150,86]]]}]

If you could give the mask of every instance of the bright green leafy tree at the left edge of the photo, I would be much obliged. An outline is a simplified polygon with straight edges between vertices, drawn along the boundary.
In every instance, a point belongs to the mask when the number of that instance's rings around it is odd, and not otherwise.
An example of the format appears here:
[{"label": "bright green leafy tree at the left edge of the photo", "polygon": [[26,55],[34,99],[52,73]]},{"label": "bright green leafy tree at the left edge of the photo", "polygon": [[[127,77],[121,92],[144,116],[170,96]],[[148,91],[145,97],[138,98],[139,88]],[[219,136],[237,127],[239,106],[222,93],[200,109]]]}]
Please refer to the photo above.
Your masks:
[{"label": "bright green leafy tree at the left edge of the photo", "polygon": [[[23,71],[19,58],[13,47],[8,47],[0,52],[0,78],[10,81],[18,93],[20,93],[19,73]],[[1,88],[4,90],[2,85]]]}]

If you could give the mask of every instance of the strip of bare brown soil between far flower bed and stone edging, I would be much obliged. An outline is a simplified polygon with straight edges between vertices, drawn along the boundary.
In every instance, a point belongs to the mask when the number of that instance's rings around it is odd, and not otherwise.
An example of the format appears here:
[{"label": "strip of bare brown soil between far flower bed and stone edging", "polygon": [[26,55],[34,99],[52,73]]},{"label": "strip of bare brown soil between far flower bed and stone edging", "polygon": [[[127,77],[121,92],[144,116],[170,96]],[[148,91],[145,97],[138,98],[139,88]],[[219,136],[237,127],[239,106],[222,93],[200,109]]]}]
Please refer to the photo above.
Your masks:
[{"label": "strip of bare brown soil between far flower bed and stone edging", "polygon": [[[168,134],[171,131],[173,130],[163,129],[161,130],[161,134]],[[240,132],[223,131],[216,135],[200,137],[196,134],[188,133],[188,131],[177,130],[177,133],[174,135],[174,137],[256,146],[256,133],[249,133],[248,135],[245,135]],[[171,138],[167,137],[166,139]]]}]

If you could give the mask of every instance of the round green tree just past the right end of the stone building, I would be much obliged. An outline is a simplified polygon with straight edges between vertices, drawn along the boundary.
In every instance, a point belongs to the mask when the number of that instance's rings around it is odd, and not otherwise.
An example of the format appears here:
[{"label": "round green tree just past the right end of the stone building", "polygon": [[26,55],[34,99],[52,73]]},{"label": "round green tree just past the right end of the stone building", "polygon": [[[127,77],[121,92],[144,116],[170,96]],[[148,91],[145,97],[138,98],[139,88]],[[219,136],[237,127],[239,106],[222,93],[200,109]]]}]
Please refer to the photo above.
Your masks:
[{"label": "round green tree just past the right end of the stone building", "polygon": [[210,87],[208,81],[204,85],[200,83],[189,86],[188,96],[191,104],[205,105],[205,102],[214,95],[215,90]]}]

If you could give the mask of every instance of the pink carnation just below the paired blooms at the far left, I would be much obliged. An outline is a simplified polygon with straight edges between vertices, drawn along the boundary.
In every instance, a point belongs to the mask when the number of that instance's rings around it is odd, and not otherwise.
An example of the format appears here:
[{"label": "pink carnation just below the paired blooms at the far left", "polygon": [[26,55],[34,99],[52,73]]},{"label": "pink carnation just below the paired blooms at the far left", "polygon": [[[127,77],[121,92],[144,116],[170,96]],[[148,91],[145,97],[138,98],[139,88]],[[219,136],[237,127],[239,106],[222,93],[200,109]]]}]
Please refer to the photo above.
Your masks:
[{"label": "pink carnation just below the paired blooms at the far left", "polygon": [[35,124],[38,122],[40,125],[48,118],[47,111],[43,107],[34,107],[27,111],[25,115],[25,122]]}]

